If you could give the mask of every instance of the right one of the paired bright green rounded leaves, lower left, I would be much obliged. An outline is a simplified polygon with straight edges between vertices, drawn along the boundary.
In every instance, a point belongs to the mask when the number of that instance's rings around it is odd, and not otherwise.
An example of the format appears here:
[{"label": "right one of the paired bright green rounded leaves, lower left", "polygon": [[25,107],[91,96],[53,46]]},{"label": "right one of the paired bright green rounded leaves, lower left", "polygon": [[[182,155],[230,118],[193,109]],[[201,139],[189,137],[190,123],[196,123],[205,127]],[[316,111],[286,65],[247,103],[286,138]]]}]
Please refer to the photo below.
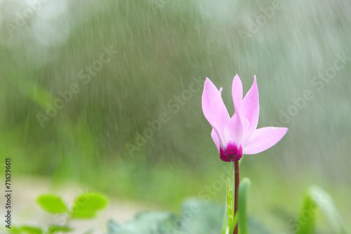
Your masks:
[{"label": "right one of the paired bright green rounded leaves, lower left", "polygon": [[107,198],[99,193],[82,193],[74,201],[71,218],[91,219],[107,205]]}]

